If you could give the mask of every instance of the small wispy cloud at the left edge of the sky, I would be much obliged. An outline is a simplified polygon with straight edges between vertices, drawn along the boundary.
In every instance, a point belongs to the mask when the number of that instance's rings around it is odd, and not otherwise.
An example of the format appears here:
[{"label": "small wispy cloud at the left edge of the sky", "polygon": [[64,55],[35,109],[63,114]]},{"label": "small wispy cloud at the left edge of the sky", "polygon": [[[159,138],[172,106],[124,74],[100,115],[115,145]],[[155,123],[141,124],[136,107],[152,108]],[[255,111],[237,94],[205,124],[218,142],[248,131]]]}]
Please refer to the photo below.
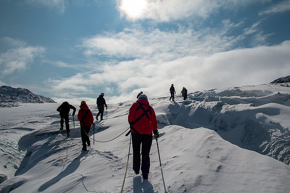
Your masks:
[{"label": "small wispy cloud at the left edge of the sky", "polygon": [[[26,46],[23,42],[6,38],[14,48],[0,54],[1,76],[7,76],[15,71],[26,70],[35,57],[45,52],[43,47]],[[24,46],[25,45],[25,46]],[[20,47],[16,47],[20,46]]]}]

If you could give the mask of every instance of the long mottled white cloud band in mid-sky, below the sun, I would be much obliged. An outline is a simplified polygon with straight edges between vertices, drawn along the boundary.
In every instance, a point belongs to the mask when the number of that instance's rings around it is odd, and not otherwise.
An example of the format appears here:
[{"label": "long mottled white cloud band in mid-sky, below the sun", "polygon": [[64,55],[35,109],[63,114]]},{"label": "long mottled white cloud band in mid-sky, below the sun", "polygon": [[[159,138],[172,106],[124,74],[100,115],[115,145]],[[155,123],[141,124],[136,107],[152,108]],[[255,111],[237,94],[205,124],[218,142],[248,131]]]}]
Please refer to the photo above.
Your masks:
[{"label": "long mottled white cloud band in mid-sky, below the sun", "polygon": [[236,28],[228,22],[221,29],[180,28],[178,31],[143,30],[141,27],[126,28],[117,34],[106,33],[84,39],[81,47],[86,56],[102,55],[110,58],[155,57],[176,59],[180,55],[211,54],[231,48],[244,35],[227,37],[229,29]]}]

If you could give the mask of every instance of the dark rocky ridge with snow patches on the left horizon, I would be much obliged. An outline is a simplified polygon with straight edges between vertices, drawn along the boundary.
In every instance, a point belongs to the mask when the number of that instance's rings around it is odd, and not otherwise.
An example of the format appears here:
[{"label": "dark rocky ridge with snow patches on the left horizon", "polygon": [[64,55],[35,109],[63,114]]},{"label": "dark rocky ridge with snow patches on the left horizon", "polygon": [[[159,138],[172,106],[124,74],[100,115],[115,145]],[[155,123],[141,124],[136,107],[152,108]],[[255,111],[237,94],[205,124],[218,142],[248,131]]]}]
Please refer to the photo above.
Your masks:
[{"label": "dark rocky ridge with snow patches on the left horizon", "polygon": [[0,107],[18,107],[19,103],[56,103],[50,98],[34,94],[26,88],[0,87]]}]

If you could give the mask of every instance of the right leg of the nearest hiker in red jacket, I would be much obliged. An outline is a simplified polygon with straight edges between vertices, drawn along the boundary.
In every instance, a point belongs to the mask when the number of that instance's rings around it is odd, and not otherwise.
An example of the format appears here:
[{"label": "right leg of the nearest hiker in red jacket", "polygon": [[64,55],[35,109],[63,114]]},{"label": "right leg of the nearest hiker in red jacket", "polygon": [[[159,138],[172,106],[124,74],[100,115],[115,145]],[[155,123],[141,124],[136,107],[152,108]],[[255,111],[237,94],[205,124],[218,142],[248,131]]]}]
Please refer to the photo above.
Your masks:
[{"label": "right leg of the nearest hiker in red jacket", "polygon": [[150,169],[150,149],[152,145],[152,135],[143,135],[142,140],[142,163],[141,163],[141,171],[143,177],[146,179],[148,177],[149,169]]}]

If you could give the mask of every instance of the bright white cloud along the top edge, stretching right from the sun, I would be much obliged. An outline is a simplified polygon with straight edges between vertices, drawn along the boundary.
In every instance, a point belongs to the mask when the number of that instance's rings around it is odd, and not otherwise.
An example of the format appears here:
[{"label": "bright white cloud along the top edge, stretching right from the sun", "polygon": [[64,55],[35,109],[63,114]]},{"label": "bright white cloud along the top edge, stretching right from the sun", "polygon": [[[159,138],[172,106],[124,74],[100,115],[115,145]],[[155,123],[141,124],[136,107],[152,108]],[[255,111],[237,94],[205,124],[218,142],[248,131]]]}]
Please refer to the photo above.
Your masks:
[{"label": "bright white cloud along the top edge, stretching right from the sun", "polygon": [[[217,13],[220,8],[239,9],[250,4],[267,2],[270,0],[244,0],[244,1],[220,1],[220,0],[150,0],[146,1],[146,6],[140,9],[140,13],[131,13],[131,9],[124,8],[124,4],[129,0],[118,0],[118,8],[122,16],[129,20],[152,19],[157,22],[169,22],[172,20],[183,20],[190,17],[208,18],[211,14]],[[130,0],[131,1],[131,0]],[[144,6],[142,4],[142,6]],[[135,9],[136,10],[136,9]]]}]

